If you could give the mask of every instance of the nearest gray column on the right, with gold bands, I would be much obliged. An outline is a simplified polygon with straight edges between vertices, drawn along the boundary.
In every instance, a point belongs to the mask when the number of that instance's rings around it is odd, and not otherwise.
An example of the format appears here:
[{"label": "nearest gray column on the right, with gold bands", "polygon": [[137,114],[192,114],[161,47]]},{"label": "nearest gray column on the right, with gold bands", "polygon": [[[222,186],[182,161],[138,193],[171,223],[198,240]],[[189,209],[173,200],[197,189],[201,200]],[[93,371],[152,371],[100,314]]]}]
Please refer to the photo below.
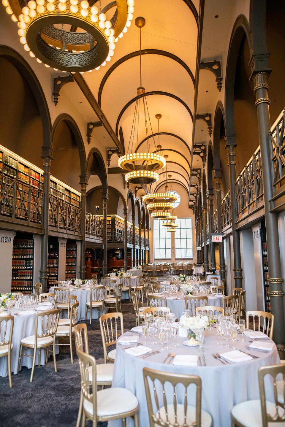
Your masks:
[{"label": "nearest gray column on the right, with gold bands", "polygon": [[[268,56],[267,56],[268,58]],[[253,66],[256,66],[256,58],[253,58]],[[279,351],[285,351],[285,327],[284,327],[284,291],[282,283],[284,279],[281,275],[280,247],[277,213],[270,212],[270,199],[273,196],[273,183],[271,172],[271,156],[268,142],[270,132],[270,115],[267,85],[268,72],[254,71],[253,82],[256,94],[256,109],[259,126],[259,143],[262,164],[263,193],[264,193],[264,213],[267,238],[267,260],[270,296],[270,310],[274,315],[274,335]]]}]

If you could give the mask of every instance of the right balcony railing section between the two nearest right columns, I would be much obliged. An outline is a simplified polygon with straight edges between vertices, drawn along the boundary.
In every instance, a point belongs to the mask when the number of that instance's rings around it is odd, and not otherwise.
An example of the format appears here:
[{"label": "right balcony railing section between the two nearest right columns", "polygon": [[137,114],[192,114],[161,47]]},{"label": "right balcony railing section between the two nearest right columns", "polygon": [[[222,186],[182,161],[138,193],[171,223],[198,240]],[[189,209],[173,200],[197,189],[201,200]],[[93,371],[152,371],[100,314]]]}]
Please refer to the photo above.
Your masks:
[{"label": "right balcony railing section between the two nearest right columns", "polygon": [[235,184],[237,219],[248,215],[263,200],[260,147],[238,175]]}]

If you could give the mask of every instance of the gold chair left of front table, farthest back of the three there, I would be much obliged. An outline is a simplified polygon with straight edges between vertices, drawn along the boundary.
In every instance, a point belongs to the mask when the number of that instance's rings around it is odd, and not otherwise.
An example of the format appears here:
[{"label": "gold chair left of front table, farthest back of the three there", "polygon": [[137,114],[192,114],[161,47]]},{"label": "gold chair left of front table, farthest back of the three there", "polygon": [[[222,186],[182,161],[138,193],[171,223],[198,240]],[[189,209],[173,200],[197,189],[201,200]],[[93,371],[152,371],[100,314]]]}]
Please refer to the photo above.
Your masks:
[{"label": "gold chair left of front table, farthest back of the three there", "polygon": [[110,345],[115,345],[117,339],[123,333],[123,314],[122,313],[108,313],[103,314],[99,319],[102,344],[103,344],[103,353],[104,353],[104,363],[115,362],[116,349],[109,351],[107,353],[107,348]]}]

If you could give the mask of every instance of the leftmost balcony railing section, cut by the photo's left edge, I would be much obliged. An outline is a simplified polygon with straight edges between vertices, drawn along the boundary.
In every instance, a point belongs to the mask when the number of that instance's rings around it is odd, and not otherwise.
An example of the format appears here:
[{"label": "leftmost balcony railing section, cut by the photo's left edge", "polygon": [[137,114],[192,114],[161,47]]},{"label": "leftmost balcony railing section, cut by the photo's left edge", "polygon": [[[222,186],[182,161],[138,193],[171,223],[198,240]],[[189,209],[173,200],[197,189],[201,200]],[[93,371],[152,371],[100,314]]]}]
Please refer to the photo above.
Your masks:
[{"label": "leftmost balcony railing section, cut by the photo's left edge", "polygon": [[42,222],[43,192],[0,174],[0,214],[27,222]]}]

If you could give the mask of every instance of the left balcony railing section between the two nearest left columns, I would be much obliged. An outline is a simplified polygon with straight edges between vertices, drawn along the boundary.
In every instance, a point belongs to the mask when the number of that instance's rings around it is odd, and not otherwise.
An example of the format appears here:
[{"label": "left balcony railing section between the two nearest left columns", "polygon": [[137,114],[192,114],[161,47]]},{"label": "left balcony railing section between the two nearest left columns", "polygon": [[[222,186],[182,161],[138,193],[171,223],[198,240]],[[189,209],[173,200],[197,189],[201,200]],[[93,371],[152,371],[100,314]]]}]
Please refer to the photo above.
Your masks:
[{"label": "left balcony railing section between the two nearest left columns", "polygon": [[49,225],[57,229],[81,233],[81,209],[65,200],[50,196]]}]

